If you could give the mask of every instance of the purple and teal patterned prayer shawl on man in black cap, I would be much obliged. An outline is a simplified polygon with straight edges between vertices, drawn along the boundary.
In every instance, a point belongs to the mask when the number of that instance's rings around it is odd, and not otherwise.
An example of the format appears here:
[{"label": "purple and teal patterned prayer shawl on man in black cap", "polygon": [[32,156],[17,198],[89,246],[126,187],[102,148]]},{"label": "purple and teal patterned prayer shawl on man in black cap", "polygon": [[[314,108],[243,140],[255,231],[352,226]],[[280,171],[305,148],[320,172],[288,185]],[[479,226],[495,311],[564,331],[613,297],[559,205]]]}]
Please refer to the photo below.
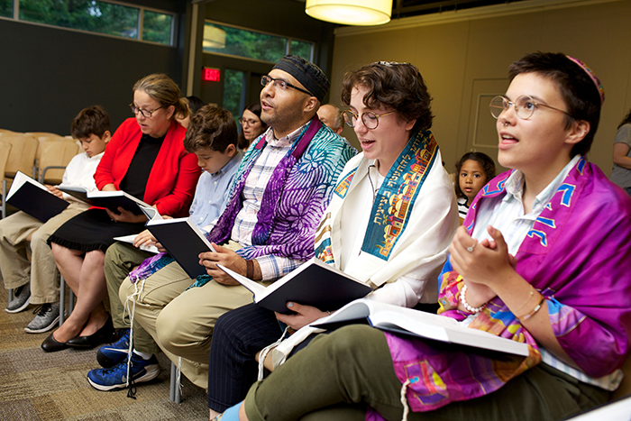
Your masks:
[{"label": "purple and teal patterned prayer shawl on man in black cap", "polygon": [[[230,239],[234,220],[242,208],[245,180],[266,145],[262,135],[245,153],[234,176],[228,205],[206,236],[210,242],[224,243]],[[315,116],[274,169],[263,193],[252,245],[242,247],[237,253],[244,259],[270,254],[298,261],[312,258],[315,228],[331,199],[337,177],[356,153]],[[146,279],[170,263],[169,259],[164,254],[151,257],[129,277],[133,281]]]}]

